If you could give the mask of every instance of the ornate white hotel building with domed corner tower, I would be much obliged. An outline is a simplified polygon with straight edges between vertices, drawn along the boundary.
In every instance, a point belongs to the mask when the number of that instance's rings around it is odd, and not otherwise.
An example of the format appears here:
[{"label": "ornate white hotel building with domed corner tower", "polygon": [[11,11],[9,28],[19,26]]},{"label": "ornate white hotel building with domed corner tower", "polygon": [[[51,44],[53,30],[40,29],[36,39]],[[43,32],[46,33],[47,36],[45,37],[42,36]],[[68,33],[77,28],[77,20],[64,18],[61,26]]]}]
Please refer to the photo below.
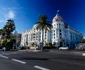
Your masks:
[{"label": "ornate white hotel building with domed corner tower", "polygon": [[[32,29],[27,30],[22,33],[21,45],[30,46],[31,43],[40,45],[42,42],[42,31],[36,29],[37,24],[33,26]],[[64,22],[61,16],[58,14],[52,20],[52,29],[43,32],[43,42],[45,43],[56,43],[56,47],[60,46],[60,41],[62,41],[62,46],[72,47],[75,44],[81,42],[83,39],[82,33],[71,28],[67,23]]]}]

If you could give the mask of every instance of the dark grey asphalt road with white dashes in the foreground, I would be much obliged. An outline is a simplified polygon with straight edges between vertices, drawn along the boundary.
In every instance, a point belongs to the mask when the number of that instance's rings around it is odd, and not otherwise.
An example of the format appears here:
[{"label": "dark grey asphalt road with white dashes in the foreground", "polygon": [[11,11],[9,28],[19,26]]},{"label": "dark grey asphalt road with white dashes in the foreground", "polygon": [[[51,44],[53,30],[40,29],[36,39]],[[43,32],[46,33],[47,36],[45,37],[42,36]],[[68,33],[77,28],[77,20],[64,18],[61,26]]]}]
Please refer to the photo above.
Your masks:
[{"label": "dark grey asphalt road with white dashes in the foreground", "polygon": [[70,53],[0,51],[0,70],[85,70],[85,57]]}]

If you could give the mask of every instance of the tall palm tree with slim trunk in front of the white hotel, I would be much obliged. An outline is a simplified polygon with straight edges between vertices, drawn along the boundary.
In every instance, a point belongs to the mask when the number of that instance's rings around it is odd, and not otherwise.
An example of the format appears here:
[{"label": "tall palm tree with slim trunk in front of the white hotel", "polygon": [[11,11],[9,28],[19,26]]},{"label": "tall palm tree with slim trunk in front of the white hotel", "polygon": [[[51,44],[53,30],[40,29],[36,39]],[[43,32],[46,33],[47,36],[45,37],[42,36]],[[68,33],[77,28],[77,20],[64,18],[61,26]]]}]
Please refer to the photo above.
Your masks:
[{"label": "tall palm tree with slim trunk in front of the white hotel", "polygon": [[43,31],[46,30],[48,31],[49,29],[51,29],[52,25],[49,24],[50,22],[48,21],[48,17],[46,15],[40,15],[38,22],[37,22],[37,26],[36,29],[41,30],[42,31],[42,46],[41,46],[41,50],[43,49]]}]

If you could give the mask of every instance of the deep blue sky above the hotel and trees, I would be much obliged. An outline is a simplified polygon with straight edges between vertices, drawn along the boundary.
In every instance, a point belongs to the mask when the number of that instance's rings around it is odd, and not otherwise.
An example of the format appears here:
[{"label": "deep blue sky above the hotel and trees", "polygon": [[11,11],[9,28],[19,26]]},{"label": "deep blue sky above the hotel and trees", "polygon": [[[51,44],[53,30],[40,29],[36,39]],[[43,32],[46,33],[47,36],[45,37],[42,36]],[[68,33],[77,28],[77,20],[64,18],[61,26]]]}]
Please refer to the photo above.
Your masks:
[{"label": "deep blue sky above the hotel and trees", "polygon": [[13,19],[16,31],[29,30],[39,15],[46,14],[52,22],[57,10],[74,29],[85,36],[85,0],[0,0],[0,28]]}]

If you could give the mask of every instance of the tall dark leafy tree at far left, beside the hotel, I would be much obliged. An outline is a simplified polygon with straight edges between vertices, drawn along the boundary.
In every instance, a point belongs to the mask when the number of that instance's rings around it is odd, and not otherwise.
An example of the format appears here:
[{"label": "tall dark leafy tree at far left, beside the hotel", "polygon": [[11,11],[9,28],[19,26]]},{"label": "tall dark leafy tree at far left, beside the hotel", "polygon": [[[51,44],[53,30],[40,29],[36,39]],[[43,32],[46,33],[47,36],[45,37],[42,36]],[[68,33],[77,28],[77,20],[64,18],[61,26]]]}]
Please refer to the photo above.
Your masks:
[{"label": "tall dark leafy tree at far left, beside the hotel", "polygon": [[13,20],[7,20],[3,29],[0,29],[1,45],[4,47],[12,47],[14,36],[12,32],[15,30],[15,24]]}]

